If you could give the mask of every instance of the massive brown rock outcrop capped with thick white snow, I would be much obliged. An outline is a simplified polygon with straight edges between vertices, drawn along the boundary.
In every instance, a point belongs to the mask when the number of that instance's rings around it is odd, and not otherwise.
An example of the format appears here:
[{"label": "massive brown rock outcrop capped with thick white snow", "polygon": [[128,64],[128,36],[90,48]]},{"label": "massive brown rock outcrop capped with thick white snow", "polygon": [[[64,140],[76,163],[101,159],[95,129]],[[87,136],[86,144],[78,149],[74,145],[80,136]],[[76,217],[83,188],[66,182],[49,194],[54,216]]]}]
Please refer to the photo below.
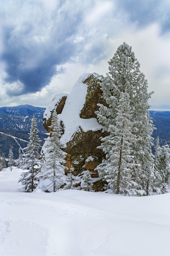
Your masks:
[{"label": "massive brown rock outcrop capped with thick white snow", "polygon": [[98,74],[83,74],[69,94],[56,95],[44,112],[44,127],[49,132],[51,113],[58,114],[63,130],[61,139],[66,144],[67,167],[75,168],[74,175],[90,170],[96,191],[102,188],[102,182],[98,181],[95,168],[104,157],[102,150],[97,148],[101,143],[99,138],[104,135],[95,115],[97,103],[103,103],[99,83]]}]

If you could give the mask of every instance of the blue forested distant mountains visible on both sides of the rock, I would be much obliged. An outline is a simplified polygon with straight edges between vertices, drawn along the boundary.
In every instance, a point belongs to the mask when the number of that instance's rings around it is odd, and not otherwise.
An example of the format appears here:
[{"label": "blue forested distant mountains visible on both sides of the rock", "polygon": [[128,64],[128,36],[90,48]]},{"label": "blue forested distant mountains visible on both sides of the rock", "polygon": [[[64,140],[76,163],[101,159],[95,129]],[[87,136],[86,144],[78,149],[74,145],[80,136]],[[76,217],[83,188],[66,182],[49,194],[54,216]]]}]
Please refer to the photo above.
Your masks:
[{"label": "blue forested distant mountains visible on both sides of the rock", "polygon": [[[27,145],[33,115],[37,119],[39,137],[44,143],[47,137],[43,126],[43,114],[46,108],[31,105],[0,108],[0,151],[8,157],[10,144],[13,146],[15,159],[18,157],[19,145],[21,148]],[[160,144],[170,144],[170,111],[150,110],[153,124],[157,128],[153,137],[160,137]],[[18,140],[17,140],[18,138]],[[17,140],[17,142],[16,142]]]}]

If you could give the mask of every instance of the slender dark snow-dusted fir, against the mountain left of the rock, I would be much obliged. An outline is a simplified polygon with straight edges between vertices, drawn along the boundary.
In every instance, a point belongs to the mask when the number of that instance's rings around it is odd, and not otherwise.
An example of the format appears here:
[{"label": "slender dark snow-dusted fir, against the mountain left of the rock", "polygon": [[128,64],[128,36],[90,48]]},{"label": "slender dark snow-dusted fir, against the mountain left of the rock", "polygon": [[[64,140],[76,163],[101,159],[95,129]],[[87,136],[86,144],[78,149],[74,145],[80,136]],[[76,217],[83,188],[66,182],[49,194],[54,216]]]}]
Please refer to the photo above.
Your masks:
[{"label": "slender dark snow-dusted fir, against the mountain left of the rock", "polygon": [[23,150],[24,154],[24,167],[27,172],[21,174],[18,182],[24,186],[24,192],[32,192],[38,185],[38,172],[40,171],[40,138],[38,136],[38,128],[36,124],[36,118],[33,115],[31,122],[31,129],[29,133],[29,143]]}]

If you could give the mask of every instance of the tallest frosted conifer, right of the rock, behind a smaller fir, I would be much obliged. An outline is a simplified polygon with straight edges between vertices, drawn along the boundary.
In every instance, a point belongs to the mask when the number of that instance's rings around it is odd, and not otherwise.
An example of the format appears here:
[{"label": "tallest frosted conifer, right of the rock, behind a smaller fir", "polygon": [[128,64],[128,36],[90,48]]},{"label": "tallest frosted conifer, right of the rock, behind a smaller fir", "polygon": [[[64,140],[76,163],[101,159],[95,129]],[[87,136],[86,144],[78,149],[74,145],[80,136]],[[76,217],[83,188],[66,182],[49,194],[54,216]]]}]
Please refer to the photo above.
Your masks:
[{"label": "tallest frosted conifer, right of the rock, behind a smaller fir", "polygon": [[[99,104],[96,112],[99,124],[102,124],[103,131],[110,134],[110,126],[116,130],[117,107],[121,92],[129,94],[130,108],[132,110],[132,130],[135,140],[132,141],[131,153],[135,165],[131,173],[132,180],[137,184],[136,191],[139,195],[150,195],[154,189],[154,174],[152,169],[152,120],[149,117],[148,99],[152,93],[148,93],[148,85],[143,73],[139,70],[140,64],[135,58],[132,48],[126,43],[120,45],[109,61],[109,74],[102,77],[101,90],[106,106]],[[102,139],[101,148],[106,154],[106,160],[113,148],[113,134]],[[131,161],[131,160],[130,160]],[[98,167],[97,167],[98,168]],[[103,171],[106,162],[103,161]],[[102,169],[100,175],[105,176]],[[102,173],[102,174],[101,174]],[[153,175],[148,175],[152,173]],[[151,180],[151,177],[153,180]],[[105,177],[103,177],[105,179]]]}]

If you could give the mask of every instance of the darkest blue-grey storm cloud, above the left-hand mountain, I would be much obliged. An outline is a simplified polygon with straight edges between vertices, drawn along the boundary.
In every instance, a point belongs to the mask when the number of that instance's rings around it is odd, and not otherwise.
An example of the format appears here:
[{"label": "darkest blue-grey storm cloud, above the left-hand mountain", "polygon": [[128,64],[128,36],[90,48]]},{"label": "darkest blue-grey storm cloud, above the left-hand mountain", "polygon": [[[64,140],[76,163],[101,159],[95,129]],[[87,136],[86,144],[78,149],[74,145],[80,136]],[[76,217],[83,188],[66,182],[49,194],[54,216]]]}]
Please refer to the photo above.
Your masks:
[{"label": "darkest blue-grey storm cloud, above the left-hand mountain", "polygon": [[[56,74],[56,65],[65,63],[75,51],[71,42],[60,42],[55,38],[47,44],[29,41],[29,46],[24,46],[22,41],[6,40],[7,45],[2,58],[7,63],[7,83],[20,81],[24,86],[20,94],[37,92],[49,84]],[[8,94],[18,95],[18,92]]]}]

